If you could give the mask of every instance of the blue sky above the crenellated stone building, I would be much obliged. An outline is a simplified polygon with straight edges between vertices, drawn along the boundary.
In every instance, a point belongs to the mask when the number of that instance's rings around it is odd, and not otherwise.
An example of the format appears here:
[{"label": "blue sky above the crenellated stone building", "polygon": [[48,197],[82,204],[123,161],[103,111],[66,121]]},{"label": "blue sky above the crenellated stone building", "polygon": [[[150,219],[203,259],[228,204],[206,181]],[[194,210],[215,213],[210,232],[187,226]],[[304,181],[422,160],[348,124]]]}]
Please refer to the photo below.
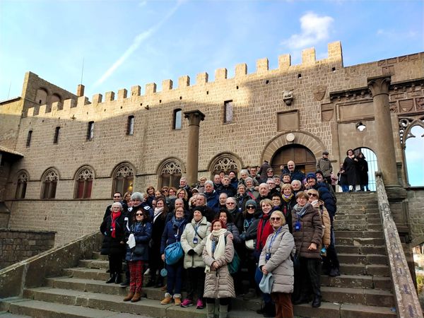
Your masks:
[{"label": "blue sky above the crenellated stone building", "polygon": [[[345,66],[424,51],[424,1],[0,0],[0,100],[26,71],[73,93],[95,93],[247,63],[341,41]],[[424,178],[423,178],[424,179]]]}]

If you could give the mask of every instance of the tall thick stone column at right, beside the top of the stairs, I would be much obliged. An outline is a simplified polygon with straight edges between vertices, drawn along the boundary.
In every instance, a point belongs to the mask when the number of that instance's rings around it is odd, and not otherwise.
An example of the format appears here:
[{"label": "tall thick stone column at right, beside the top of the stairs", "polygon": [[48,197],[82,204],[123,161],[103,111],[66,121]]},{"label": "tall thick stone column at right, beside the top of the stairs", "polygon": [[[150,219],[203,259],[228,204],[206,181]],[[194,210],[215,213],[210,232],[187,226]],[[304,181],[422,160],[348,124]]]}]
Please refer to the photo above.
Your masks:
[{"label": "tall thick stone column at right, beside the top of the stairs", "polygon": [[[370,88],[372,93],[374,104],[378,168],[382,172],[387,195],[391,196],[389,193],[391,193],[392,190],[394,190],[394,192],[403,193],[405,190],[401,188],[397,176],[393,130],[391,129],[389,107],[389,86],[391,76],[384,75],[367,78],[367,82],[368,88]],[[401,196],[404,196],[404,194]]]}]

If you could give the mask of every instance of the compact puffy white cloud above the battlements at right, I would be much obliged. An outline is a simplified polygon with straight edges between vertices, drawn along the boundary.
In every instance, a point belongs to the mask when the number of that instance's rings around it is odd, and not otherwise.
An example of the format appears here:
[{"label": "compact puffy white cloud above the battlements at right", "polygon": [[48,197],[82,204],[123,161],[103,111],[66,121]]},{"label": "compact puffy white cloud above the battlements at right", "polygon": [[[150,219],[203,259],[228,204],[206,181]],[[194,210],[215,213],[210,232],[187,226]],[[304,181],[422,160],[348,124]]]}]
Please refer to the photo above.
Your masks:
[{"label": "compact puffy white cloud above the battlements at right", "polygon": [[281,44],[291,49],[302,49],[318,42],[327,40],[329,30],[334,19],[331,16],[318,16],[316,13],[308,12],[300,18],[302,33],[294,34]]}]

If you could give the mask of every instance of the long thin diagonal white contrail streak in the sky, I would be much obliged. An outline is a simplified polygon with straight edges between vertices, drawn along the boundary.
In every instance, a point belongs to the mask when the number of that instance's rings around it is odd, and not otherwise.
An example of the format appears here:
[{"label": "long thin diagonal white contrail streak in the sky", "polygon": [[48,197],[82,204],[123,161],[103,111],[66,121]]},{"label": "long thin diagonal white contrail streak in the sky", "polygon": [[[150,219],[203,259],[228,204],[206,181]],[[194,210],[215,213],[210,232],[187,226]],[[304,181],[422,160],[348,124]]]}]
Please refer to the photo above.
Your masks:
[{"label": "long thin diagonal white contrail streak in the sky", "polygon": [[171,16],[174,15],[174,13],[177,11],[179,6],[183,4],[183,2],[184,0],[177,1],[177,4],[166,14],[166,16],[163,17],[162,20],[160,20],[158,23],[153,25],[148,30],[143,31],[142,33],[139,33],[139,35],[136,35],[136,37],[134,37],[133,42],[128,47],[128,49],[126,49],[124,54],[122,54],[122,56],[119,57],[119,59],[117,59],[117,61],[115,61],[114,64],[110,66],[109,69],[107,69],[107,71],[102,75],[102,77],[100,77],[97,81],[95,81],[95,83],[93,84],[93,88],[100,86],[100,84],[106,81],[107,78],[109,78],[114,73],[114,71],[116,71],[117,68],[121,66],[124,63],[124,61],[126,61],[126,59],[128,59],[129,56],[136,51],[136,49],[140,47],[141,43],[143,43],[149,37],[151,37]]}]

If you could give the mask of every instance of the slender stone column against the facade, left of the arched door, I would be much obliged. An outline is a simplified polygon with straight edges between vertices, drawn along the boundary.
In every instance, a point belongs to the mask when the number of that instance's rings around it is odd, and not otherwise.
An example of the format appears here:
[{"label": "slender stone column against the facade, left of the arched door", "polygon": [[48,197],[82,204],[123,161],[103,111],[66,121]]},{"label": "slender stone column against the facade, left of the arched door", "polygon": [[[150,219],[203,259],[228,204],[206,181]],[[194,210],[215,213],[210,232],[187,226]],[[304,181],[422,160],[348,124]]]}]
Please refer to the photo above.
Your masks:
[{"label": "slender stone column against the facade, left of the arched door", "polygon": [[189,119],[189,139],[187,140],[187,183],[197,182],[197,170],[199,167],[199,126],[205,119],[200,110],[184,112],[184,118]]}]

